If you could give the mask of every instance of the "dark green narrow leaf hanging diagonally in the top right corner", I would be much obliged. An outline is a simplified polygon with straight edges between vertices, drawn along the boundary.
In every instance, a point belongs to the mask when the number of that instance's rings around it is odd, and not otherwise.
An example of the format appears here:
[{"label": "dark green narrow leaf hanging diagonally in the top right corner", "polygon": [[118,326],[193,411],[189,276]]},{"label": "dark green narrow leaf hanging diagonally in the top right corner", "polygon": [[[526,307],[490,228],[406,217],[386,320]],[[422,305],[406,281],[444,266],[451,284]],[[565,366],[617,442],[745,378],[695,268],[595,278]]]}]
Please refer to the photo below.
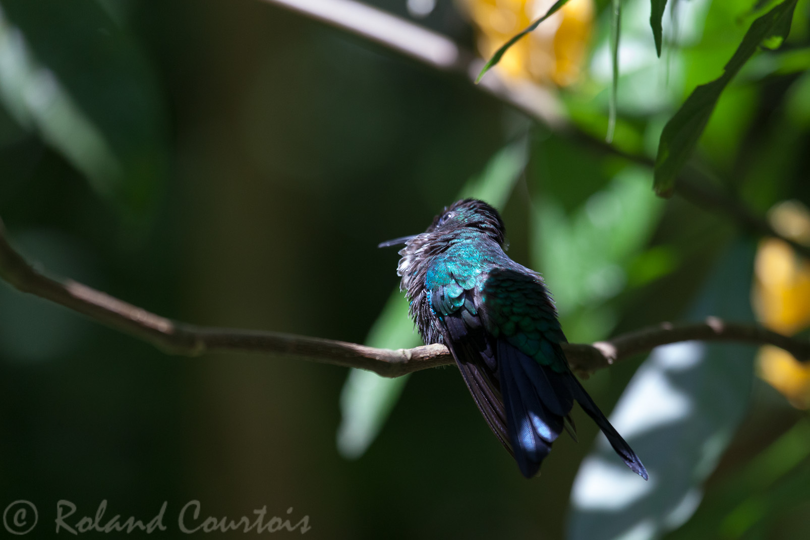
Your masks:
[{"label": "dark green narrow leaf hanging diagonally in the top right corner", "polygon": [[671,197],[675,179],[697,146],[714,105],[735,74],[752,57],[765,40],[767,45],[782,43],[791,30],[791,19],[797,0],[785,0],[755,20],[731,60],[723,68],[723,75],[711,83],[703,84],[681,105],[675,116],[663,129],[655,158],[654,189],[660,197]]}]

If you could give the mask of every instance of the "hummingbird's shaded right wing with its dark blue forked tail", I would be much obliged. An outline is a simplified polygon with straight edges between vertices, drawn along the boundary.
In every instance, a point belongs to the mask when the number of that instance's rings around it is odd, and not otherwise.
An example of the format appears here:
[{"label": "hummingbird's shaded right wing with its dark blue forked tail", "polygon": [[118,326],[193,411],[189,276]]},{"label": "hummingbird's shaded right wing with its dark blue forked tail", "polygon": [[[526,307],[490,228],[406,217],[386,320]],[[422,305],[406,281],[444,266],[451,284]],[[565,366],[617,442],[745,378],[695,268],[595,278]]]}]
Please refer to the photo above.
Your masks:
[{"label": "hummingbird's shaded right wing with its dark blue forked tail", "polygon": [[625,464],[646,479],[642,461],[571,372],[560,346],[567,340],[539,274],[522,266],[490,270],[476,304],[495,340],[509,442],[522,474],[537,474],[576,400]]}]

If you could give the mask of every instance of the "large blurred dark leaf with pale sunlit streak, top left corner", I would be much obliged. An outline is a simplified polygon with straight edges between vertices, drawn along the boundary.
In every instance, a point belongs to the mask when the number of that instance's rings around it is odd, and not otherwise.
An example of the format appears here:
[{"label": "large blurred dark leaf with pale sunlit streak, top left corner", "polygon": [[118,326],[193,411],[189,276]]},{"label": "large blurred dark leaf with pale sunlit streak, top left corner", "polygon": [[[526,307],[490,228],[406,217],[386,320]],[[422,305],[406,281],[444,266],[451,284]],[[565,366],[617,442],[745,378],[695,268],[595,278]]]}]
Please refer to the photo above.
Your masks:
[{"label": "large blurred dark leaf with pale sunlit streak, top left corner", "polygon": [[96,2],[2,1],[0,103],[124,217],[154,210],[168,175],[163,97]]}]

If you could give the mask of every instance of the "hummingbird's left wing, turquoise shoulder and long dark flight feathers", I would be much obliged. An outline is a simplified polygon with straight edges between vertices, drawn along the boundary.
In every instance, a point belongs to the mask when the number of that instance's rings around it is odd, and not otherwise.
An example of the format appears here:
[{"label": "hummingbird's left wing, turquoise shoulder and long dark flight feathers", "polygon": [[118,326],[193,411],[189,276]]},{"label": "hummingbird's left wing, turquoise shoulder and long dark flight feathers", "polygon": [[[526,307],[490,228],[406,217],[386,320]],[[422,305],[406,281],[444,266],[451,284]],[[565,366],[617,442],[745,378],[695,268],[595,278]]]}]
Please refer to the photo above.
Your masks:
[{"label": "hummingbird's left wing, turquoise shoulder and long dark flight feathers", "polygon": [[451,272],[446,275],[445,284],[434,285],[428,292],[430,307],[438,316],[442,340],[456,360],[458,371],[489,428],[512,453],[496,376],[495,351],[475,308],[475,280],[456,279]]}]

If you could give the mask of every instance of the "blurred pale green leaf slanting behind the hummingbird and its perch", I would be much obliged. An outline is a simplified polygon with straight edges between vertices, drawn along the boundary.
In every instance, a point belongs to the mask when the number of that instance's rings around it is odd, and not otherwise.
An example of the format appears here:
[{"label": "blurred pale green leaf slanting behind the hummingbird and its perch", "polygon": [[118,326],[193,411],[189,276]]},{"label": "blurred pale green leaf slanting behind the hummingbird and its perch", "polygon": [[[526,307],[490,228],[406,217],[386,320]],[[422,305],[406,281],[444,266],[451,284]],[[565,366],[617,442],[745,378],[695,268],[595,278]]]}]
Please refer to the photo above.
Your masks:
[{"label": "blurred pale green leaf slanting behind the hummingbird and its perch", "polygon": [[[502,208],[509,200],[515,183],[528,161],[525,138],[498,151],[484,172],[467,181],[458,198],[474,197]],[[369,331],[366,345],[387,349],[410,348],[421,344],[407,314],[407,300],[399,287],[394,289],[386,307]],[[347,459],[362,456],[373,443],[399,400],[408,376],[395,379],[378,376],[360,369],[349,370],[340,394],[341,423],[337,444],[340,455]]]}]

